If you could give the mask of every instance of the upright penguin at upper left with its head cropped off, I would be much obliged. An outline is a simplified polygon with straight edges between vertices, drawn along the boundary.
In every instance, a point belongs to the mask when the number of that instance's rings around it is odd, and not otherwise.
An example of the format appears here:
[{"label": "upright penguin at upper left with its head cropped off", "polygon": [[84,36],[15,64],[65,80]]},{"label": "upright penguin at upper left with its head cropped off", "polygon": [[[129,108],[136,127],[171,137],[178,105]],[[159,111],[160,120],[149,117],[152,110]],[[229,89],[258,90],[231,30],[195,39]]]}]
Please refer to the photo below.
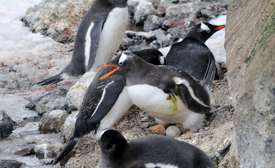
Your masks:
[{"label": "upright penguin at upper left with its head cropped off", "polygon": [[79,78],[85,72],[113,58],[128,25],[127,0],[95,0],[81,21],[70,63],[60,74],[38,85],[50,85],[64,79]]}]

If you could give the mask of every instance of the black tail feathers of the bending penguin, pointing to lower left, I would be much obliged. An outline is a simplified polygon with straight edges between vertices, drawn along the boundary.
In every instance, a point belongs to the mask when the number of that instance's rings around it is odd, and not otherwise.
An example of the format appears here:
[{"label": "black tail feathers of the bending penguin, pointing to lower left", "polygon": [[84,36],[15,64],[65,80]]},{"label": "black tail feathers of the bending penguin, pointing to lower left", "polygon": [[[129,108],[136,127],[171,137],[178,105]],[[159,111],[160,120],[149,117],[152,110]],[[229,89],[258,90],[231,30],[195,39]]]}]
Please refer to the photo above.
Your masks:
[{"label": "black tail feathers of the bending penguin, pointing to lower left", "polygon": [[78,144],[79,140],[80,140],[80,138],[76,138],[74,136],[71,137],[71,139],[69,140],[69,142],[67,143],[67,145],[64,147],[64,149],[59,154],[59,156],[52,163],[52,166],[56,165],[56,163],[60,162],[65,156],[67,156],[67,154],[69,154],[70,151],[72,151],[74,149],[74,147],[76,147],[76,145]]}]

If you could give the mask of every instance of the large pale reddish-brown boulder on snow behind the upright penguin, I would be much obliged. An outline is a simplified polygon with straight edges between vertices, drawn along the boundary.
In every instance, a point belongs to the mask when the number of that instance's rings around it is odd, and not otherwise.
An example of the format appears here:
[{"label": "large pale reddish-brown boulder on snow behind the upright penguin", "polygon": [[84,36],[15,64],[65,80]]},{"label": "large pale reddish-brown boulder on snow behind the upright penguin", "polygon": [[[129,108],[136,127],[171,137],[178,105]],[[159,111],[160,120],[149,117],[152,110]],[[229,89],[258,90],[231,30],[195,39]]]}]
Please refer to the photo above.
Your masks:
[{"label": "large pale reddish-brown boulder on snow behind the upright penguin", "polygon": [[81,19],[94,0],[43,0],[28,8],[23,21],[32,28],[58,42],[73,42]]}]

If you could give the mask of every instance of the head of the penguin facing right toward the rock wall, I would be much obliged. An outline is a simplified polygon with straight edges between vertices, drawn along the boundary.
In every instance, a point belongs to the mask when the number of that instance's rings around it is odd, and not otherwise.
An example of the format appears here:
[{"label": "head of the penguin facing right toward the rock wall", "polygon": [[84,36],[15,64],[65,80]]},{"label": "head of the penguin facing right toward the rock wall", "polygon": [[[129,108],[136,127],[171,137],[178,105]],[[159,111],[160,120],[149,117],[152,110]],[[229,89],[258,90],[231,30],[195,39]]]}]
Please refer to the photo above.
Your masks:
[{"label": "head of the penguin facing right toward the rock wall", "polygon": [[[205,43],[215,32],[225,28],[225,25],[212,25],[203,22],[195,25],[185,36],[185,38],[195,39],[201,43]],[[184,39],[185,39],[184,38]]]}]

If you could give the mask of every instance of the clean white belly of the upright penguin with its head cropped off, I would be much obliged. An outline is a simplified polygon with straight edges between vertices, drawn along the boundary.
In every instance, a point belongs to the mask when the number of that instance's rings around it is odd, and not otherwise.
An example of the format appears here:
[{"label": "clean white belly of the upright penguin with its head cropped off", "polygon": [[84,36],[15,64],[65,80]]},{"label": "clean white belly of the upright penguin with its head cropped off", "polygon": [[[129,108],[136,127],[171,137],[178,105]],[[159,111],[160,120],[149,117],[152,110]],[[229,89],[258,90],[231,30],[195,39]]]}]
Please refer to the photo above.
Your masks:
[{"label": "clean white belly of the upright penguin with its head cropped off", "polygon": [[123,39],[128,25],[128,7],[114,8],[108,15],[100,33],[98,54],[90,71],[98,72],[96,66],[111,61]]}]

